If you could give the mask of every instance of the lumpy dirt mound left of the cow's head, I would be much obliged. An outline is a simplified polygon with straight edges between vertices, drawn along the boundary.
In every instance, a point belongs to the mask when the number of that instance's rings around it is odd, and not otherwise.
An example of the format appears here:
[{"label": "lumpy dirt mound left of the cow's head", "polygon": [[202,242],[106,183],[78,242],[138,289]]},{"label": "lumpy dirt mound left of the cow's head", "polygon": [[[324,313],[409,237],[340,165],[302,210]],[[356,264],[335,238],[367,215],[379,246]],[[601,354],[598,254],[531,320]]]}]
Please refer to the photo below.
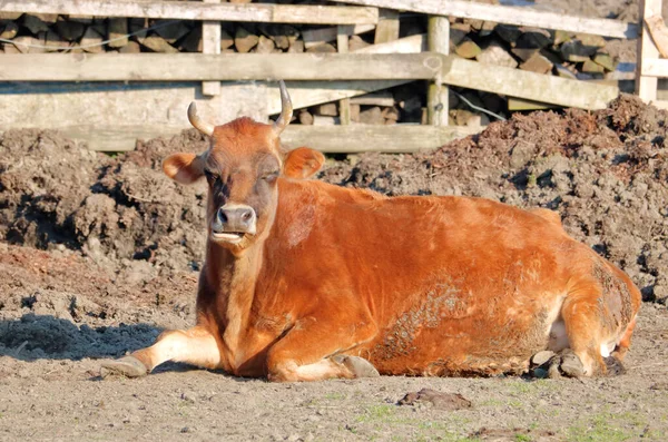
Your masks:
[{"label": "lumpy dirt mound left of the cow's head", "polygon": [[176,186],[160,163],[173,151],[205,148],[188,130],[114,159],[53,131],[7,131],[0,136],[0,239],[81,251],[115,271],[132,261],[197,269],[205,187]]}]

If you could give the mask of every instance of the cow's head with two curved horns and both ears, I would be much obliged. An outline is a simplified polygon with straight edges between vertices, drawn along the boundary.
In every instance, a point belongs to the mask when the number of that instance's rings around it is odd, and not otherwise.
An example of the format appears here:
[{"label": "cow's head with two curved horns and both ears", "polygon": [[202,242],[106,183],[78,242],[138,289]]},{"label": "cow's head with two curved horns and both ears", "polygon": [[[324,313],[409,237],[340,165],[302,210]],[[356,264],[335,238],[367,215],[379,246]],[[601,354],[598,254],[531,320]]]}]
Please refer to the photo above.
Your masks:
[{"label": "cow's head with two curved horns and both ears", "polygon": [[281,132],[292,118],[292,102],[281,81],[283,110],[273,125],[238,118],[214,126],[199,118],[195,102],[188,108],[190,124],[212,139],[208,150],[174,154],[163,163],[171,179],[208,183],[208,238],[240,253],[266,237],[278,203],[279,177],[307,178],[324,163],[321,153],[306,147],[291,151],[281,146]]}]

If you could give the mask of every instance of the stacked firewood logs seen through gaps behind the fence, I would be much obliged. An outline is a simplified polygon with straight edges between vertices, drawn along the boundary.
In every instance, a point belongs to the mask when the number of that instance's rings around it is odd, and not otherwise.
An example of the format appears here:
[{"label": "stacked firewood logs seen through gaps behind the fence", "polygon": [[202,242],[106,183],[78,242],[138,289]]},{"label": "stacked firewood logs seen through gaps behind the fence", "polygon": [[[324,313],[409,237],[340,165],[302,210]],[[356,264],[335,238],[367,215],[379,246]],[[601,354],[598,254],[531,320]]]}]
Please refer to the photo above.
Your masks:
[{"label": "stacked firewood logs seen through gaps behind the fence", "polygon": [[[255,22],[222,22],[220,26],[222,53],[338,51],[336,27]],[[350,28],[346,51],[365,50],[379,42],[374,26]],[[406,14],[401,19],[397,37],[425,32],[426,16]],[[199,52],[203,46],[202,26],[196,21],[8,12],[0,12],[0,38],[10,41],[0,42],[0,57],[36,52]],[[573,79],[605,79],[615,71],[617,60],[606,51],[606,43],[598,36],[471,19],[450,20],[451,53],[481,63]],[[350,101],[351,124],[426,124],[426,87],[424,81],[415,81],[355,97]],[[459,89],[451,90],[449,105],[450,124],[460,126],[487,125],[493,118],[475,108],[504,118],[512,110],[527,108],[521,100]],[[340,102],[299,109],[295,112],[295,122],[340,124]]]}]

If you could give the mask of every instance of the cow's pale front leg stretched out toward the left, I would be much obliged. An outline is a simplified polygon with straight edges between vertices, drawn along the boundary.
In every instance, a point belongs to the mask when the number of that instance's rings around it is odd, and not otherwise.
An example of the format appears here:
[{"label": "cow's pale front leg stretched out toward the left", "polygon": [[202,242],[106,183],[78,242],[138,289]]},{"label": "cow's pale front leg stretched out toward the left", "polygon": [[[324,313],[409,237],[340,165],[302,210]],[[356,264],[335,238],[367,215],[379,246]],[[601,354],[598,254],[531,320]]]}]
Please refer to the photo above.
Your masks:
[{"label": "cow's pale front leg stretched out toward the left", "polygon": [[214,335],[204,327],[196,326],[186,331],[170,330],[163,332],[156,343],[149,347],[115,361],[104,362],[100,373],[139,377],[167,361],[216,369],[220,363],[220,351]]}]

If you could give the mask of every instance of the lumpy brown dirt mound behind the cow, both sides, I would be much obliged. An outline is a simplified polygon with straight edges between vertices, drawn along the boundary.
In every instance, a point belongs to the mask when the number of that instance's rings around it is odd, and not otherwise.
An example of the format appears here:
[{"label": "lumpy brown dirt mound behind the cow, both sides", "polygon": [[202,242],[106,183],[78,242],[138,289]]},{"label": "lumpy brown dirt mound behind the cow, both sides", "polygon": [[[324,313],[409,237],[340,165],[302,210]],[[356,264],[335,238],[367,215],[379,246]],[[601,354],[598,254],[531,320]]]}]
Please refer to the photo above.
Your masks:
[{"label": "lumpy brown dirt mound behind the cow, both sides", "polygon": [[[629,273],[646,299],[668,297],[666,112],[621,96],[607,109],[517,115],[438,151],[371,154],[321,179],[384,194],[470,195],[561,214],[564,228]],[[110,158],[50,131],[0,137],[0,239],[73,249],[148,283],[198,269],[204,184],[167,179],[161,160],[202,151],[196,130]]]}]

